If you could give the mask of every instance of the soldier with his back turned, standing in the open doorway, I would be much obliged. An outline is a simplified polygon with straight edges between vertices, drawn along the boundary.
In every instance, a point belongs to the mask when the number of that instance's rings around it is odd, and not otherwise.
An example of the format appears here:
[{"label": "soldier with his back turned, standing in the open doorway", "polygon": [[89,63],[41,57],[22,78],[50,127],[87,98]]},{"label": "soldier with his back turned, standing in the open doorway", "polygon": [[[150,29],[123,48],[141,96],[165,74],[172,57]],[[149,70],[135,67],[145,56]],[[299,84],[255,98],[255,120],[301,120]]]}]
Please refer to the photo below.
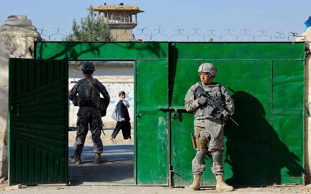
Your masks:
[{"label": "soldier with his back turned, standing in the open doorway", "polygon": [[[82,163],[81,153],[89,129],[89,124],[94,144],[94,163],[107,162],[106,159],[100,156],[103,152],[103,142],[100,135],[103,123],[101,116],[105,116],[110,102],[110,96],[105,86],[100,83],[100,81],[93,78],[92,74],[95,71],[95,67],[92,62],[84,62],[81,71],[83,71],[85,78],[79,80],[79,82],[72,87],[69,94],[69,100],[72,100],[75,106],[79,106],[79,111],[77,113],[77,136],[76,143],[73,145],[73,159],[71,162],[75,164]],[[106,109],[103,113],[104,115],[101,115],[99,110],[100,93],[103,95],[106,104]]]}]

